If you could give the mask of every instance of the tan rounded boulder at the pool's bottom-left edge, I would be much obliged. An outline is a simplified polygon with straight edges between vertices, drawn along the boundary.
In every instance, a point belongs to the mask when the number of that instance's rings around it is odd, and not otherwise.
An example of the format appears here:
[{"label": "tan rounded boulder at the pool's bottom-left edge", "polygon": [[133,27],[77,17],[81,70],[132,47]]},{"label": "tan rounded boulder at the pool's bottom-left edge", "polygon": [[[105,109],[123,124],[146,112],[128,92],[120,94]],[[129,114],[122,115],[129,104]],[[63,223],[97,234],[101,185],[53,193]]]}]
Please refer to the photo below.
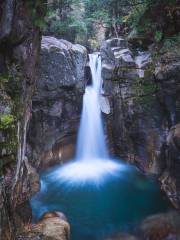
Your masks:
[{"label": "tan rounded boulder at the pool's bottom-left edge", "polygon": [[17,240],[70,240],[70,225],[63,213],[47,212],[37,224],[25,226]]}]

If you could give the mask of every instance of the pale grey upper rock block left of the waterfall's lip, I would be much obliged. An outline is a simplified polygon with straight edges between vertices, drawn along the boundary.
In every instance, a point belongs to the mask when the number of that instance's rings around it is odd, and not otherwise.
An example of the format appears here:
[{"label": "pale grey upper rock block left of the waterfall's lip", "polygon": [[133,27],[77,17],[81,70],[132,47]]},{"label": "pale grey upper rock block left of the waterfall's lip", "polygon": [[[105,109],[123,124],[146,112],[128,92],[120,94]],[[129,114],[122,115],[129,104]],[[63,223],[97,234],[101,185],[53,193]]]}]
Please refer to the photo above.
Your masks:
[{"label": "pale grey upper rock block left of the waterfall's lip", "polygon": [[[63,88],[75,87],[84,91],[86,48],[63,39],[43,36],[41,42],[41,69],[36,97],[57,94]],[[48,94],[49,93],[49,94]],[[51,96],[50,96],[51,95]]]}]

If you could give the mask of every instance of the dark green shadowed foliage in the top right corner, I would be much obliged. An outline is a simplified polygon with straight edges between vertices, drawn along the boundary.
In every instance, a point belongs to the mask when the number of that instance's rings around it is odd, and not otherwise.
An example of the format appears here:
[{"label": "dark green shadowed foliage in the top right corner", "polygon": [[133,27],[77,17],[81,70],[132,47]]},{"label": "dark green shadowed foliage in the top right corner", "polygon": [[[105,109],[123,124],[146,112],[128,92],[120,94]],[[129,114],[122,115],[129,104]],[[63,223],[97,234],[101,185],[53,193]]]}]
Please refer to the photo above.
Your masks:
[{"label": "dark green shadowed foliage in the top right corner", "polygon": [[128,16],[130,30],[137,36],[160,43],[177,33],[179,4],[176,0],[144,0],[131,8]]}]

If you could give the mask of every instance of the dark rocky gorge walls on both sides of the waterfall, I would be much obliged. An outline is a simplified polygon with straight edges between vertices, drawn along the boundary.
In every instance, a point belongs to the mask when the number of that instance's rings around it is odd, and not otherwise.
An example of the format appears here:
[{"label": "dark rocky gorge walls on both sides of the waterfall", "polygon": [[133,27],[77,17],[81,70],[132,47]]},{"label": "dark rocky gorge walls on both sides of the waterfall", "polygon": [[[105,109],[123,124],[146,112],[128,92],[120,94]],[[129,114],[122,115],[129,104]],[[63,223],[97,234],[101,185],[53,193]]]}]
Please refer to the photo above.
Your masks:
[{"label": "dark rocky gorge walls on both sides of the waterfall", "polygon": [[[0,238],[66,240],[70,227],[59,213],[29,231],[29,198],[39,190],[38,170],[74,156],[87,52],[54,37],[41,41],[25,1],[0,0],[0,13]],[[180,63],[149,56],[140,67],[139,55],[120,38],[101,47],[112,152],[157,174],[179,208]]]}]

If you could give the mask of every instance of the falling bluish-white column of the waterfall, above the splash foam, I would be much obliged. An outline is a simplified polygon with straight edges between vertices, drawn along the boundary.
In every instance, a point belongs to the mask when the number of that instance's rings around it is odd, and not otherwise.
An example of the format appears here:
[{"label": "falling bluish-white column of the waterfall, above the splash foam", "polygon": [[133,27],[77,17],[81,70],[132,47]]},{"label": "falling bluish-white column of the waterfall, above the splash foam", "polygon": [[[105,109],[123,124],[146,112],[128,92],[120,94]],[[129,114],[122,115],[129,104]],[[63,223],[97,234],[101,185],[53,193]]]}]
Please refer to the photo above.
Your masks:
[{"label": "falling bluish-white column of the waterfall, above the splash foam", "polygon": [[89,59],[92,85],[86,87],[83,97],[76,154],[78,160],[84,161],[108,157],[100,109],[101,57],[98,54],[90,54]]}]

